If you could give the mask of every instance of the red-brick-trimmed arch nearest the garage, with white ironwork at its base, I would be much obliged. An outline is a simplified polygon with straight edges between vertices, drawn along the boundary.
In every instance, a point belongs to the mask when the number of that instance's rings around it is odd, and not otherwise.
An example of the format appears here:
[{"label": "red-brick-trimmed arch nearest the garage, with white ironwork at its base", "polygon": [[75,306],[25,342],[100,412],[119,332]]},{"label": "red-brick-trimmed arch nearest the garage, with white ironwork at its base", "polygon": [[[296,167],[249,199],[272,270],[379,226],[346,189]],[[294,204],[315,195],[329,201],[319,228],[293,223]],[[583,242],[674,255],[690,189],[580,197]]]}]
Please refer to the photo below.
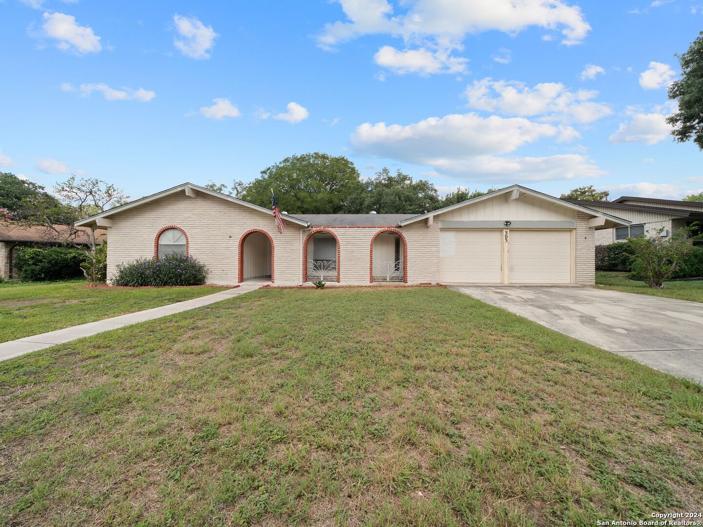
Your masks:
[{"label": "red-brick-trimmed arch nearest the garage, with white ironwork at its base", "polygon": [[408,246],[396,229],[379,230],[371,238],[369,282],[408,282]]}]

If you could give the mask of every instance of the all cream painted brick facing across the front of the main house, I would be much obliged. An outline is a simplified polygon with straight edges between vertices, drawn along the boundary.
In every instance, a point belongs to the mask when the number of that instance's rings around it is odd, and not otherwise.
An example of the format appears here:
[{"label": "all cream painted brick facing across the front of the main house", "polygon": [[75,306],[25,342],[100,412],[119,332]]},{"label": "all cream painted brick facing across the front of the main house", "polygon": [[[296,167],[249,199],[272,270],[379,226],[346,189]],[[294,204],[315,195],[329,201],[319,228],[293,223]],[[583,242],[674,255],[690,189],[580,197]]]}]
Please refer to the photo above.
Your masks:
[{"label": "all cream painted brick facing across the front of the main house", "polygon": [[[209,269],[207,281],[216,284],[236,284],[239,278],[240,238],[252,229],[265,230],[273,240],[274,285],[298,285],[303,282],[303,242],[310,233],[287,221],[288,228],[278,233],[273,217],[220,197],[196,193],[188,197],[183,192],[160,197],[122,212],[110,214],[112,226],[108,229],[108,279],[112,278],[118,263],[154,256],[155,237],[160,229],[177,226],[188,237],[188,253],[205,263]],[[505,203],[498,196],[496,204]],[[574,233],[574,277],[576,283],[594,283],[593,228],[583,212],[559,204],[546,207],[542,200],[526,200],[512,211],[512,219],[569,219],[576,221]],[[483,204],[482,218],[491,219],[491,208]],[[469,204],[467,207],[471,207]],[[455,214],[459,214],[459,211]],[[539,214],[539,216],[536,216]],[[493,213],[503,220],[505,211]],[[285,218],[285,215],[283,216]],[[315,229],[325,226],[315,226]],[[439,216],[427,224],[423,219],[398,230],[406,240],[407,282],[439,282]],[[382,227],[325,227],[333,232],[340,244],[340,283],[368,284],[370,282],[370,244]],[[333,283],[330,280],[330,285]]]}]

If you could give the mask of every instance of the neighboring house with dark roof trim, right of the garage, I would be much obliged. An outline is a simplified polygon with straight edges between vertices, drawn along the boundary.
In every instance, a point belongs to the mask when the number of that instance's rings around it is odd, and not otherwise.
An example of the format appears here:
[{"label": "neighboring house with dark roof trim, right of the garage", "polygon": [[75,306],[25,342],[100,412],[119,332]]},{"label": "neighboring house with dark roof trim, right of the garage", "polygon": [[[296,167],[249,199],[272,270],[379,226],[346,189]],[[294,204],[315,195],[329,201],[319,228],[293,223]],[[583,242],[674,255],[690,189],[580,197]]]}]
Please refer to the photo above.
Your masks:
[{"label": "neighboring house with dark roof trim, right of the garage", "polygon": [[696,223],[703,225],[703,203],[655,200],[651,197],[623,196],[611,202],[565,200],[595,211],[613,214],[631,221],[629,226],[598,230],[595,245],[608,245],[634,236],[655,235],[662,228],[661,236],[671,236],[675,230]]}]

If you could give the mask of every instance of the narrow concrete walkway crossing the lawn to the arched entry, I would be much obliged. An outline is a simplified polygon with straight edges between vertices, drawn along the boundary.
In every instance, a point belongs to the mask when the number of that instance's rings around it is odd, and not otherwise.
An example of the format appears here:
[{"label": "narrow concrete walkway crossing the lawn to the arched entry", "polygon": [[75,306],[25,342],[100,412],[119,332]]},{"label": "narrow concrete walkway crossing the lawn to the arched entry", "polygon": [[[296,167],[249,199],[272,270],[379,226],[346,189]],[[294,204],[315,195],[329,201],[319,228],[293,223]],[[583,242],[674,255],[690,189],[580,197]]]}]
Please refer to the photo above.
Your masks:
[{"label": "narrow concrete walkway crossing the lawn to the arched entry", "polygon": [[188,311],[189,309],[207,306],[207,304],[212,304],[214,302],[219,302],[221,300],[236,297],[240,294],[254,291],[259,289],[259,287],[261,287],[261,285],[258,283],[251,285],[247,284],[241,287],[235,287],[234,289],[226,289],[225,291],[208,294],[207,297],[198,297],[191,300],[178,302],[176,304],[147,309],[146,311],[129,313],[129,315],[105,318],[105,320],[98,320],[97,322],[89,322],[87,324],[66,327],[63,330],[50,331],[48,333],[41,333],[32,337],[3,342],[0,344],[0,360],[18,357],[20,355],[25,355],[25,353],[31,353],[32,351],[37,351],[38,349],[49,348],[51,346],[56,346],[56,344],[63,344],[64,342],[69,342],[75,339],[90,337],[91,335],[102,333],[103,331],[115,330],[117,327],[124,327],[131,324],[144,322],[145,320],[161,318],[166,315],[172,315],[174,313]]}]

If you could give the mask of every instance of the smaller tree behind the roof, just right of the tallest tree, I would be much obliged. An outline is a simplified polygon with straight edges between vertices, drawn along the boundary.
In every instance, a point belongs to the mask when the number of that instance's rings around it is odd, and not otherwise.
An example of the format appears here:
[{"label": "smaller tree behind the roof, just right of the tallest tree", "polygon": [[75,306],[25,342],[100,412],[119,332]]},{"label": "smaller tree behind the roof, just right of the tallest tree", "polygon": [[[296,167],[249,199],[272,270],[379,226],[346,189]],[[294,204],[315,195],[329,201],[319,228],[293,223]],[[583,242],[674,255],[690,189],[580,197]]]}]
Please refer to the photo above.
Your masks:
[{"label": "smaller tree behind the roof, just right of the tallest tree", "polygon": [[384,167],[366,182],[363,212],[424,214],[438,207],[437,188],[424,179],[414,181],[400,169],[393,175]]}]

